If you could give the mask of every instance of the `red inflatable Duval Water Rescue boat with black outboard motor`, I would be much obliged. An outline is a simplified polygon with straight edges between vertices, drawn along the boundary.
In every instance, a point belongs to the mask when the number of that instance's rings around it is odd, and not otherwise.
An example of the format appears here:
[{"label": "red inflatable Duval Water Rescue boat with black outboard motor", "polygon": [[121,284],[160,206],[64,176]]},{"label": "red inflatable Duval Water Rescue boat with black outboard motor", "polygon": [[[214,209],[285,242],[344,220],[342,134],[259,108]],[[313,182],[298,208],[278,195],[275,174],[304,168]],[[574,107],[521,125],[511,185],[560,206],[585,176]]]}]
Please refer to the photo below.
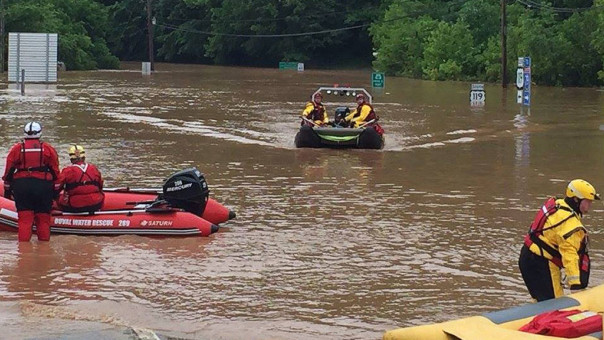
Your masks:
[{"label": "red inflatable Duval Water Rescue boat with black outboard motor", "polygon": [[[3,197],[0,185],[0,230],[17,231],[15,203]],[[101,211],[52,212],[51,232],[83,235],[208,236],[235,213],[209,197],[197,169],[172,175],[156,189],[107,189]],[[35,228],[35,227],[34,227]]]}]

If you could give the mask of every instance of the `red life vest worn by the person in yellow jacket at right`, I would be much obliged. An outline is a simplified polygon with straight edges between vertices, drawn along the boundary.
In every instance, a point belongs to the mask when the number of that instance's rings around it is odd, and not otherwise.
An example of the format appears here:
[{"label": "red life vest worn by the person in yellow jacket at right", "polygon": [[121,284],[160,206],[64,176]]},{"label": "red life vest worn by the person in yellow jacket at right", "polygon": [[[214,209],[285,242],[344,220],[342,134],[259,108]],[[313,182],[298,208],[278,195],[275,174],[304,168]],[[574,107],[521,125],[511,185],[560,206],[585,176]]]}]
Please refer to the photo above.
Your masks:
[{"label": "red life vest worn by the person in yellow jacket at right", "polygon": [[[545,226],[545,222],[547,221],[547,218],[549,216],[555,214],[558,210],[565,210],[565,211],[570,212],[571,214],[569,214],[568,217],[562,219],[560,222],[545,228],[544,226]],[[562,225],[562,223],[568,221],[569,219],[571,219],[573,217],[575,217],[575,213],[573,212],[573,210],[571,208],[557,204],[555,197],[548,198],[545,201],[545,203],[543,204],[543,206],[541,207],[541,209],[539,209],[539,211],[537,212],[537,215],[535,216],[533,223],[531,223],[529,231],[526,234],[526,236],[524,237],[524,244],[528,248],[530,248],[531,245],[536,244],[541,249],[541,256],[543,256],[543,251],[546,251],[548,254],[550,254],[552,256],[550,261],[552,261],[559,268],[562,268],[563,267],[562,255],[560,254],[558,249],[549,245],[540,236],[543,236],[543,232],[545,230],[554,229],[554,228]],[[571,233],[572,232],[574,232],[574,231],[571,231]],[[565,235],[565,237],[566,237],[566,235]],[[589,254],[588,254],[588,244],[589,244],[589,239],[588,239],[587,235],[585,235],[585,237],[583,238],[583,241],[581,242],[581,247],[578,251],[579,269],[581,272],[581,285],[585,286],[585,287],[587,287],[587,281],[589,279],[589,271],[590,271],[590,259],[589,259]]]}]

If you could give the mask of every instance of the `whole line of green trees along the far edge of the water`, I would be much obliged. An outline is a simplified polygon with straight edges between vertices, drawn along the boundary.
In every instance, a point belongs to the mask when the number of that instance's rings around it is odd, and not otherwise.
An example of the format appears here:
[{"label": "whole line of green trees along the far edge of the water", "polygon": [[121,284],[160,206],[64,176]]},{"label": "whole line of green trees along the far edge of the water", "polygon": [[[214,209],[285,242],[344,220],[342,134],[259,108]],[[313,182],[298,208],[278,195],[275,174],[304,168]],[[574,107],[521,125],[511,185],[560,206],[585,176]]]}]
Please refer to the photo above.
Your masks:
[{"label": "whole line of green trees along the far edge of the water", "polygon": [[[505,1],[508,79],[531,56],[537,84],[604,85],[604,0]],[[59,33],[59,59],[84,70],[147,60],[149,2],[157,61],[502,78],[493,0],[2,0],[1,10],[5,32]]]}]

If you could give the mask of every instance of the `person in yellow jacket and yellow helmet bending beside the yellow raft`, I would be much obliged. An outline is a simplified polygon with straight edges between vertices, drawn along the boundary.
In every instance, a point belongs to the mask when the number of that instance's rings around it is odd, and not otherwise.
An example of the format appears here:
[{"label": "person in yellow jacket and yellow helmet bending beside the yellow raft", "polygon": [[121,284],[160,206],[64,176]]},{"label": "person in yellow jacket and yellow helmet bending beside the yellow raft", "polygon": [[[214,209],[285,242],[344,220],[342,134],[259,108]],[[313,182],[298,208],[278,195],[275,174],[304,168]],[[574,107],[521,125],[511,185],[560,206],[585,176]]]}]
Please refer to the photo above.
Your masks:
[{"label": "person in yellow jacket and yellow helmet bending beside the yellow raft", "polygon": [[[581,218],[592,202],[599,199],[590,183],[575,179],[568,183],[564,198],[548,199],[537,213],[518,260],[522,279],[533,299],[560,297],[564,295],[563,284],[571,292],[587,287],[590,261],[587,229]],[[566,274],[564,280],[562,268]]]}]

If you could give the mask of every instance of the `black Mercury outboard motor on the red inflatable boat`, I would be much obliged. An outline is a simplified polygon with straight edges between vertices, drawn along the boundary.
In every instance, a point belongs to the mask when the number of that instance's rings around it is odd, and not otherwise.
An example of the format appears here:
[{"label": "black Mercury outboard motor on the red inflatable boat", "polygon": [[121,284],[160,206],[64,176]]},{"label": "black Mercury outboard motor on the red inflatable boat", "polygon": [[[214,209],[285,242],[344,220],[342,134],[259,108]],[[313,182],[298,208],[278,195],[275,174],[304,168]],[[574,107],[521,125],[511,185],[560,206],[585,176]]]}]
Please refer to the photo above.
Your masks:
[{"label": "black Mercury outboard motor on the red inflatable boat", "polygon": [[172,174],[163,187],[163,199],[175,208],[201,216],[208,203],[210,190],[203,174],[196,168]]}]

